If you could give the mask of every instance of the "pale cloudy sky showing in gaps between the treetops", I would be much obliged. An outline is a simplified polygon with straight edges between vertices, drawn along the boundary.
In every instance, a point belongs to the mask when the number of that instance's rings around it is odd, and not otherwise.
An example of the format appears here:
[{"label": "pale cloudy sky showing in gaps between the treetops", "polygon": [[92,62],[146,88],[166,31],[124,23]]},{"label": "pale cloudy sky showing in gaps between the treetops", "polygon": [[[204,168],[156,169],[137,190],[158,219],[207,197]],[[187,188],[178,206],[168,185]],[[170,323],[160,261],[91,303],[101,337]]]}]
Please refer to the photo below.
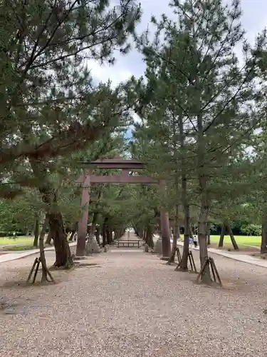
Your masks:
[{"label": "pale cloudy sky showing in gaps between the treetops", "polygon": [[[142,21],[138,26],[140,32],[147,29],[152,15],[159,18],[161,14],[171,15],[172,10],[168,7],[168,0],[140,0],[142,6]],[[224,0],[230,4],[231,0]],[[258,32],[262,31],[267,26],[267,1],[266,0],[241,0],[241,8],[243,11],[242,25],[246,31],[246,39],[253,43]],[[97,81],[108,81],[116,85],[121,81],[125,81],[130,76],[142,76],[145,71],[145,64],[142,61],[142,56],[132,49],[126,56],[117,57],[115,65],[100,66],[95,61],[90,61],[93,77]]]}]

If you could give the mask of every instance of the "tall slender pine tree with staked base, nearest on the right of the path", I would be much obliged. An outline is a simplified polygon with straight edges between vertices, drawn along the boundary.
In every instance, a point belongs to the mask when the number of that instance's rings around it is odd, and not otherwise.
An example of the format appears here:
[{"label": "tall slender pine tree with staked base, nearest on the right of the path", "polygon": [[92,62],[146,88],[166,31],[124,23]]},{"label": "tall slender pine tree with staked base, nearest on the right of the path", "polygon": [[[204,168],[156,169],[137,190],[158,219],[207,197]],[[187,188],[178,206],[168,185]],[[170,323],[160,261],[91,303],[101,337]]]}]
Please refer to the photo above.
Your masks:
[{"label": "tall slender pine tree with staked base, nearest on the right of the path", "polygon": [[[177,21],[166,15],[162,15],[160,21],[152,19],[157,27],[155,40],[151,44],[146,36],[142,36],[139,44],[142,52],[149,56],[148,67],[165,62],[169,69],[172,68],[171,78],[177,81],[175,94],[164,87],[166,101],[162,100],[162,103],[164,110],[170,111],[170,97],[176,95],[187,128],[186,142],[191,146],[187,161],[194,166],[189,179],[197,183],[195,204],[199,204],[201,266],[208,256],[206,232],[214,178],[222,173],[218,168],[230,163],[235,147],[246,144],[258,122],[251,108],[254,99],[251,89],[256,86],[258,77],[255,53],[261,49],[265,36],[258,37],[256,51],[251,54],[244,41],[239,5],[237,0],[231,6],[225,6],[221,0],[174,0],[171,6]],[[245,64],[241,67],[235,47],[242,43]],[[166,47],[169,56],[162,56],[162,49]],[[179,86],[181,77],[182,86]],[[162,116],[162,125],[164,122]],[[204,281],[209,283],[210,280],[206,269]]]}]

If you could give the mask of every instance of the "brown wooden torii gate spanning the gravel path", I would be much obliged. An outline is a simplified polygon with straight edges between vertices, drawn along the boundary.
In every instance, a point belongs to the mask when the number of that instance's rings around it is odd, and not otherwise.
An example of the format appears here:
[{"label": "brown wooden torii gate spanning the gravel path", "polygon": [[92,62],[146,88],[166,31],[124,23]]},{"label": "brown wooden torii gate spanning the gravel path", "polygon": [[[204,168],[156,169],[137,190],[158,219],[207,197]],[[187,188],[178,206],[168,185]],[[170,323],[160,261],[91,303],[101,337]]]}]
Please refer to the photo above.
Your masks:
[{"label": "brown wooden torii gate spanning the gravel path", "polygon": [[[152,184],[159,183],[155,179],[147,176],[129,176],[129,171],[144,169],[145,164],[137,160],[123,159],[104,159],[92,162],[80,163],[88,168],[98,167],[99,169],[121,169],[120,175],[100,176],[91,175],[90,173],[83,174],[77,180],[83,187],[81,206],[84,208],[90,201],[90,185],[91,183],[142,183]],[[76,256],[85,256],[86,234],[88,225],[88,209],[83,210],[83,215],[78,222],[78,239]],[[160,226],[162,233],[162,258],[169,259],[171,251],[169,240],[169,214],[162,209],[160,213]]]}]

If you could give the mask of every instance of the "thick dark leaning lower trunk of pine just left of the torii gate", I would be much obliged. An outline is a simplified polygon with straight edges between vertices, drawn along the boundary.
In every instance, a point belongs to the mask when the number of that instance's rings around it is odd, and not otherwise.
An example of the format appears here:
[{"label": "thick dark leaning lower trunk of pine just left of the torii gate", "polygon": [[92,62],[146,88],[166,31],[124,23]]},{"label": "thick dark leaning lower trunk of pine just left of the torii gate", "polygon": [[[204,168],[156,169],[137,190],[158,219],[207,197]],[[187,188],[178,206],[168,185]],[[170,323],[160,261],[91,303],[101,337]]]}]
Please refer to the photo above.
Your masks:
[{"label": "thick dark leaning lower trunk of pine just left of the torii gate", "polygon": [[70,265],[73,264],[73,258],[70,253],[70,246],[68,245],[62,214],[60,212],[48,213],[48,218],[56,251],[56,262],[54,266],[69,268]]}]

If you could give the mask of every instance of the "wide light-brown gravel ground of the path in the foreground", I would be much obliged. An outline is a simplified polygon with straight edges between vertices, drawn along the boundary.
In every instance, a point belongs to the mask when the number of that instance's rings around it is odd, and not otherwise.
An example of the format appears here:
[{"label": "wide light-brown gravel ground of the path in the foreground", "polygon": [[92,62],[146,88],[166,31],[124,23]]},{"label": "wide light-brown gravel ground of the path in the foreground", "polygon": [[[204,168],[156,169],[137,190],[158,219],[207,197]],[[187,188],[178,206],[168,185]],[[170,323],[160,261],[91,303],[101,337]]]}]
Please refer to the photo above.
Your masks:
[{"label": "wide light-brown gravel ground of the path in the foreground", "polygon": [[54,286],[19,283],[33,256],[1,263],[0,297],[17,306],[0,310],[0,356],[266,356],[266,269],[214,258],[224,288],[140,251],[53,271]]}]

